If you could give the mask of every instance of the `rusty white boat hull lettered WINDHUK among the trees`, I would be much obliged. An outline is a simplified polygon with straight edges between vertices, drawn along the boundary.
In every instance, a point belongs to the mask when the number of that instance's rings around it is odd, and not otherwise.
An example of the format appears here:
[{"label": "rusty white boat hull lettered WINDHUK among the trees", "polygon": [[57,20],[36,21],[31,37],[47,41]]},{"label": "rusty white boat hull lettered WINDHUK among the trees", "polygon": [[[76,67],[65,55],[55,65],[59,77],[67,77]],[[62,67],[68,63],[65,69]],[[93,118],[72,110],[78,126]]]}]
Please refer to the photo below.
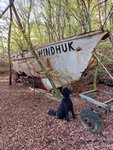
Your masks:
[{"label": "rusty white boat hull lettered WINDHUK among the trees", "polygon": [[[44,67],[52,71],[56,86],[60,87],[80,79],[82,72],[88,66],[92,52],[106,35],[108,35],[106,31],[98,30],[73,36],[38,48],[36,53]],[[14,55],[12,62],[16,72],[40,77],[45,87],[52,89],[31,51]]]}]

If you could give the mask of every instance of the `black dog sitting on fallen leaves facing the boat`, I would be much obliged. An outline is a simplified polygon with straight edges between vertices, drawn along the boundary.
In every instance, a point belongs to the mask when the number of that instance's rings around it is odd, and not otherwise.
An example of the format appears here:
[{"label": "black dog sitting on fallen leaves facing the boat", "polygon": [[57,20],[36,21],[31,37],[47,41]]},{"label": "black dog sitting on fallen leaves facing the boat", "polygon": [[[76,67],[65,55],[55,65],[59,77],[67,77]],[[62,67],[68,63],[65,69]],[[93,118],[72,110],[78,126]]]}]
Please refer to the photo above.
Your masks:
[{"label": "black dog sitting on fallen leaves facing the boat", "polygon": [[72,94],[71,90],[69,90],[68,88],[64,88],[61,93],[64,98],[62,99],[62,102],[61,102],[58,110],[55,111],[53,109],[50,109],[48,112],[48,115],[57,116],[58,119],[65,119],[65,120],[69,121],[68,113],[69,113],[69,111],[71,111],[72,118],[76,119],[76,116],[75,116],[75,113],[73,110],[73,103],[70,99],[70,94]]}]

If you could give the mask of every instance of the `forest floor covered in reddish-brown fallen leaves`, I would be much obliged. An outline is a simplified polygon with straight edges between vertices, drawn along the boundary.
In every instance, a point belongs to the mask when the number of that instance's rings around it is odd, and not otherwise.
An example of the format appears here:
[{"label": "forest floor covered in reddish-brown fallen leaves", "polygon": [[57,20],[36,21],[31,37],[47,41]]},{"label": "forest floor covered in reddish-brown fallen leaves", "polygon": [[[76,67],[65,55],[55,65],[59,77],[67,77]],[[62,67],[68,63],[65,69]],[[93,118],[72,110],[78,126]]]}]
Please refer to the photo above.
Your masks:
[{"label": "forest floor covered in reddish-brown fallen leaves", "polygon": [[[76,86],[83,91],[92,89],[92,84],[85,82]],[[97,87],[113,93],[113,87]],[[76,89],[72,101],[79,114],[93,105],[81,99]],[[78,115],[76,120],[70,117],[70,122],[48,116],[48,110],[57,109],[59,103],[44,90],[38,91],[20,83],[9,86],[8,75],[0,75],[0,150],[113,150],[113,113],[103,113],[102,134],[92,134]]]}]

